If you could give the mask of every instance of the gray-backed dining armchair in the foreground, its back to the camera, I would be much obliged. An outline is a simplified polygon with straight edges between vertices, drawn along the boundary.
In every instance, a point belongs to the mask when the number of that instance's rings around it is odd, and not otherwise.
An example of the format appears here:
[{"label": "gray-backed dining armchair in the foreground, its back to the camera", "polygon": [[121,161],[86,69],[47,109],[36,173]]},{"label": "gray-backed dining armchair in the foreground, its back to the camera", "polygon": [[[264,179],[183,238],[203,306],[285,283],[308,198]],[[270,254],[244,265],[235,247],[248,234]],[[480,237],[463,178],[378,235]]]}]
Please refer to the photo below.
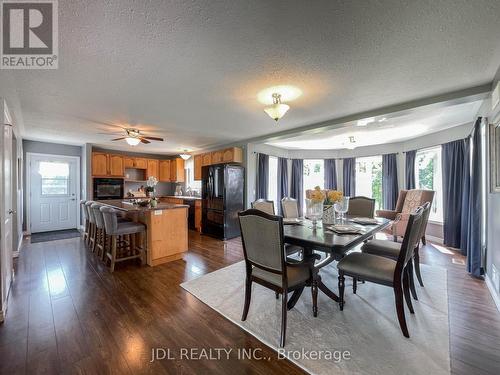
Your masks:
[{"label": "gray-backed dining armchair in the foreground, its back to the camera", "polygon": [[[245,321],[250,308],[252,282],[281,294],[280,347],[285,346],[287,309],[293,308],[306,285],[312,285],[314,261],[312,255],[293,261],[285,255],[283,218],[261,210],[249,209],[238,213],[243,253],[246,265],[245,305],[241,320]],[[312,289],[313,305],[317,307],[317,289]],[[288,293],[294,294],[288,300]]]}]

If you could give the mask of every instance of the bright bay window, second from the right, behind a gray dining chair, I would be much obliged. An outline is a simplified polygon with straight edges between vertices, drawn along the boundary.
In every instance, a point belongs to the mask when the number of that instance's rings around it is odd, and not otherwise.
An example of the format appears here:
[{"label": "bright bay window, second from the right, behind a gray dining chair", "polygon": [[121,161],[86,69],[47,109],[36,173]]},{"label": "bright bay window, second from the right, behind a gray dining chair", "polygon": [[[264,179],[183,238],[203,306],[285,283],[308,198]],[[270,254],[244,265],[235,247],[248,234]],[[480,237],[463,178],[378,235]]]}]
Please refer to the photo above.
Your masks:
[{"label": "bright bay window, second from the right, behind a gray dining chair", "polygon": [[356,195],[375,199],[382,208],[382,156],[356,158]]}]

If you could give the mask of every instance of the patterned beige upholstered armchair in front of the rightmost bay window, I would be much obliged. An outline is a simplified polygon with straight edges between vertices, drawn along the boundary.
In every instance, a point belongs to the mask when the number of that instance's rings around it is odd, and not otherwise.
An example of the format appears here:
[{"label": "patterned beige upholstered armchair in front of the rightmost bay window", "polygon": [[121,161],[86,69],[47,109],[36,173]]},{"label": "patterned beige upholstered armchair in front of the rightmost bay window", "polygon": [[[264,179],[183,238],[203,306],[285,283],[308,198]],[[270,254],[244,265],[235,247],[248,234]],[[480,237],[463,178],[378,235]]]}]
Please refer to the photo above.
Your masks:
[{"label": "patterned beige upholstered armchair in front of the rightmost bay window", "polygon": [[[433,190],[401,190],[394,210],[377,210],[377,216],[392,220],[392,224],[386,232],[392,234],[394,241],[406,233],[406,224],[410,213],[425,202],[430,202],[432,205],[434,194]],[[425,245],[425,228],[421,238]]]}]

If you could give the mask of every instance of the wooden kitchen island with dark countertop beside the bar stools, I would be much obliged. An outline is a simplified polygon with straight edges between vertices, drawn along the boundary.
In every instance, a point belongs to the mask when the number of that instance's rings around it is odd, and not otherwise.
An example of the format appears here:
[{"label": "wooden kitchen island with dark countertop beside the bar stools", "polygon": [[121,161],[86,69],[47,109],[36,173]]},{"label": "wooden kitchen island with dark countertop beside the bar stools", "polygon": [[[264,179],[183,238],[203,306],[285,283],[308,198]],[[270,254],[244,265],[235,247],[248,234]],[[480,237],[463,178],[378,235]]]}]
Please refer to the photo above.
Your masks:
[{"label": "wooden kitchen island with dark countertop beside the bar stools", "polygon": [[189,206],[158,203],[156,207],[141,207],[122,200],[99,203],[120,210],[126,217],[146,225],[149,266],[181,259],[188,250]]}]

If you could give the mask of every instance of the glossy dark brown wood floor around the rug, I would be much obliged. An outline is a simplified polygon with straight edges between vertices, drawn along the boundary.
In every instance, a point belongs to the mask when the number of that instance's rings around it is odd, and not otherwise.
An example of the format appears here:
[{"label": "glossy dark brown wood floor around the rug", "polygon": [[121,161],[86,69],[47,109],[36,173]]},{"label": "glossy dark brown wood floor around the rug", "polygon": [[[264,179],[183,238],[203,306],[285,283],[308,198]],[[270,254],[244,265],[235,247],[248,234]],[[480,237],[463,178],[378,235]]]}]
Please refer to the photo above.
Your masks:
[{"label": "glossy dark brown wood floor around the rug", "polygon": [[[422,253],[424,263],[448,269],[452,372],[498,374],[500,314],[484,283],[452,263],[463,258],[439,250]],[[184,260],[110,274],[80,239],[26,243],[0,326],[0,373],[302,373],[179,286],[242,257],[239,240],[192,232]],[[256,348],[271,360],[150,364],[155,347]]]}]

